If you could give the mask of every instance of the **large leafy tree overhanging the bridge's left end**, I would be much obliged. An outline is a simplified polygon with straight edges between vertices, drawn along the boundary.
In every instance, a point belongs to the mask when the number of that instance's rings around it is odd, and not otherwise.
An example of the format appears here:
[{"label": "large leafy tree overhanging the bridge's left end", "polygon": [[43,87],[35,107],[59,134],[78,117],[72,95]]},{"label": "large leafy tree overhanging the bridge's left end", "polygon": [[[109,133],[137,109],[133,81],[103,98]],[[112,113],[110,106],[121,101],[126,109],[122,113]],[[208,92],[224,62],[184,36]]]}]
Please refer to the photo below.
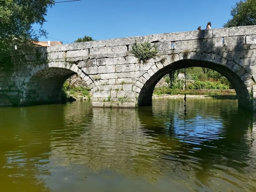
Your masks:
[{"label": "large leafy tree overhanging the bridge's left end", "polygon": [[[0,61],[14,45],[37,41],[46,36],[42,29],[48,7],[54,0],[0,0]],[[33,30],[32,25],[40,28]],[[1,57],[2,56],[2,57]]]}]

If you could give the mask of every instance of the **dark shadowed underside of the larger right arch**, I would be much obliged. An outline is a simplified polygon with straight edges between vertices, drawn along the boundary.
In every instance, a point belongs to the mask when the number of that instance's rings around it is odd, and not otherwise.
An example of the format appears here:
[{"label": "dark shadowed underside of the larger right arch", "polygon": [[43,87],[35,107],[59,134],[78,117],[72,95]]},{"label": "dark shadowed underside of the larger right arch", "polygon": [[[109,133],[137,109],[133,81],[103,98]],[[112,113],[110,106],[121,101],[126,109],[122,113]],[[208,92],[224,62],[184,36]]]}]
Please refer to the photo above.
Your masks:
[{"label": "dark shadowed underside of the larger right arch", "polygon": [[146,81],[146,83],[142,87],[138,97],[138,105],[151,106],[152,94],[158,81],[170,71],[188,67],[205,67],[219,72],[221,75],[225,76],[234,87],[238,97],[239,106],[242,106],[247,109],[252,109],[252,104],[250,102],[250,94],[247,90],[247,87],[245,86],[244,82],[240,79],[240,77],[237,74],[235,74],[231,69],[213,62],[190,59],[174,62],[157,71],[149,80]]}]

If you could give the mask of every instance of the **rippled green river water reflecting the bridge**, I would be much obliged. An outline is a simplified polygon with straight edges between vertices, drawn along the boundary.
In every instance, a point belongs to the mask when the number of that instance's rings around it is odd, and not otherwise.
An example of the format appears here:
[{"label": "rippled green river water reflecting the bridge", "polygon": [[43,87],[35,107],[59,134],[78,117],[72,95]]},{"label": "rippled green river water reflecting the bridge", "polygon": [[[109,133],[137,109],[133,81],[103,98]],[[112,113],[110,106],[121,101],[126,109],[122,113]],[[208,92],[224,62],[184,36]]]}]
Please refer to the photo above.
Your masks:
[{"label": "rippled green river water reflecting the bridge", "polygon": [[0,108],[0,191],[256,191],[256,115],[183,104]]}]

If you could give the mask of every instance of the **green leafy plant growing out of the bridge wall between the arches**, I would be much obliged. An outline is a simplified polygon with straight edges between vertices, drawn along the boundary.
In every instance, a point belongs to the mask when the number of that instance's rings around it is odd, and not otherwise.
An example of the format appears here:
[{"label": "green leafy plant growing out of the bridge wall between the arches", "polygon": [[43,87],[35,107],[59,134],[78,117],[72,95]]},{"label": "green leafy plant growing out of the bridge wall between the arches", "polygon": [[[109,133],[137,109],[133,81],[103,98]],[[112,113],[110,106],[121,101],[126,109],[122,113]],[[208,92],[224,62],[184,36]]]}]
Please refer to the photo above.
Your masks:
[{"label": "green leafy plant growing out of the bridge wall between the arches", "polygon": [[135,43],[132,45],[132,51],[134,56],[139,60],[139,62],[146,63],[148,60],[155,58],[158,53],[158,48],[156,45],[151,45],[149,42],[142,44]]}]

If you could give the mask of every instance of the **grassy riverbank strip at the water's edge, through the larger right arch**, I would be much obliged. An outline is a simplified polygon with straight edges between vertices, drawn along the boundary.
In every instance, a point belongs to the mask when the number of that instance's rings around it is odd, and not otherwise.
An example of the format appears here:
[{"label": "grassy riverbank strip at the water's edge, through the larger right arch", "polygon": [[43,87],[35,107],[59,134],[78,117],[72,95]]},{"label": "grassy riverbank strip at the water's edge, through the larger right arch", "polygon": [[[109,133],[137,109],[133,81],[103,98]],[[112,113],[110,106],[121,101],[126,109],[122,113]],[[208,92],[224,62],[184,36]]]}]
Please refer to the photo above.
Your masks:
[{"label": "grassy riverbank strip at the water's edge, through the larger right arch", "polygon": [[227,95],[234,97],[236,96],[235,90],[234,89],[220,89],[220,90],[213,90],[213,89],[187,89],[187,90],[183,90],[183,89],[171,89],[169,87],[156,87],[154,89],[153,94],[154,95],[183,95],[183,94],[187,94],[187,95],[207,95],[207,96],[211,96],[214,98],[217,98],[217,96],[224,96],[225,98]]}]

